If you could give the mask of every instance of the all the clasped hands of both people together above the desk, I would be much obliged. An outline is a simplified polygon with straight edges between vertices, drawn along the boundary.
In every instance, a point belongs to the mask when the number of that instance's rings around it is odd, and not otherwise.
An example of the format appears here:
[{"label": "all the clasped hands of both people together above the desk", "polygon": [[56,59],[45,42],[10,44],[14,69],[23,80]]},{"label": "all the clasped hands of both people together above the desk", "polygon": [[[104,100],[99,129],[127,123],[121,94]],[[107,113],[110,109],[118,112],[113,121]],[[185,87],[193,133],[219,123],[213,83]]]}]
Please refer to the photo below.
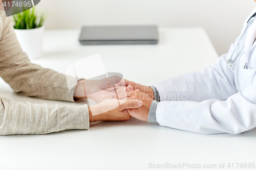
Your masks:
[{"label": "all the clasped hands of both people together above the desk", "polygon": [[118,76],[102,80],[80,80],[74,96],[77,99],[89,98],[99,103],[89,106],[90,122],[125,121],[131,116],[147,122],[148,111],[154,100],[151,87]]}]

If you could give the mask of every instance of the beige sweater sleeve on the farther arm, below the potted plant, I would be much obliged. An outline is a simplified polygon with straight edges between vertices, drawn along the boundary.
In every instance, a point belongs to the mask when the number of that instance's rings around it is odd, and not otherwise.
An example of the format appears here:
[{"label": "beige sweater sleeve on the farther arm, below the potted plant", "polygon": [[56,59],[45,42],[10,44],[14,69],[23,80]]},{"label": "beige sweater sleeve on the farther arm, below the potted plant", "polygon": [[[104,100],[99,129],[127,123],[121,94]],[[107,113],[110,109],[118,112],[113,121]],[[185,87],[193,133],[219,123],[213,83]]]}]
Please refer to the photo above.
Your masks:
[{"label": "beige sweater sleeve on the farther arm, below the potted plant", "polygon": [[18,93],[74,102],[66,76],[32,64],[16,38],[10,18],[0,11],[0,76]]}]

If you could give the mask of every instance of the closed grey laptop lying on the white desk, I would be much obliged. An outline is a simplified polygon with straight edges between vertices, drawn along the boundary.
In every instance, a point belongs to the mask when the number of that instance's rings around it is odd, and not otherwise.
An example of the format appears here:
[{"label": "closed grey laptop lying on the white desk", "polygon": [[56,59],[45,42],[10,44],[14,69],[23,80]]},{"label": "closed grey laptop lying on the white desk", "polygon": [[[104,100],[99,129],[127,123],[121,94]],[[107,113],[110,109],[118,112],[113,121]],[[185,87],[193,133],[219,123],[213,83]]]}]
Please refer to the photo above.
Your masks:
[{"label": "closed grey laptop lying on the white desk", "polygon": [[83,27],[79,41],[97,44],[157,44],[157,26],[94,26]]}]

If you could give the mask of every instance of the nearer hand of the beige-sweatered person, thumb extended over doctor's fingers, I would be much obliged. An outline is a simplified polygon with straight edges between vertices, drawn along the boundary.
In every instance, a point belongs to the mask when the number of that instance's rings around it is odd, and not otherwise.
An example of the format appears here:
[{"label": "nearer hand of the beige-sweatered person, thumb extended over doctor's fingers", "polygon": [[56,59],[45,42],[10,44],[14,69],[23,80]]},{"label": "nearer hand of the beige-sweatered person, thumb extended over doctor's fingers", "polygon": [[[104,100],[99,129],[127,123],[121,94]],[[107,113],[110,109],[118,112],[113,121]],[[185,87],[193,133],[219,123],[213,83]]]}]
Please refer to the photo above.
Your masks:
[{"label": "nearer hand of the beige-sweatered person, thumb extended over doctor's fingers", "polygon": [[90,122],[125,121],[132,117],[126,109],[139,108],[142,105],[143,103],[140,100],[106,100],[88,107]]}]

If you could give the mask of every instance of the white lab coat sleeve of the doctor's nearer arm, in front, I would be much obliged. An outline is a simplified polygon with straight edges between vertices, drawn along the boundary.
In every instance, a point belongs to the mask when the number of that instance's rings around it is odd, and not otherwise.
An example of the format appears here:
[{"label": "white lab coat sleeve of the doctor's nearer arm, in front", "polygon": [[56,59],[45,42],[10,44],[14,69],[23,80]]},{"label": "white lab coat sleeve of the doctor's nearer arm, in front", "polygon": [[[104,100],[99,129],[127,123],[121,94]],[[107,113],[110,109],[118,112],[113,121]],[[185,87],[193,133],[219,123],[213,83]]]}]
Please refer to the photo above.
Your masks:
[{"label": "white lab coat sleeve of the doctor's nearer arm, in front", "polygon": [[164,101],[156,111],[161,126],[202,134],[238,134],[256,127],[256,81],[225,101]]}]

